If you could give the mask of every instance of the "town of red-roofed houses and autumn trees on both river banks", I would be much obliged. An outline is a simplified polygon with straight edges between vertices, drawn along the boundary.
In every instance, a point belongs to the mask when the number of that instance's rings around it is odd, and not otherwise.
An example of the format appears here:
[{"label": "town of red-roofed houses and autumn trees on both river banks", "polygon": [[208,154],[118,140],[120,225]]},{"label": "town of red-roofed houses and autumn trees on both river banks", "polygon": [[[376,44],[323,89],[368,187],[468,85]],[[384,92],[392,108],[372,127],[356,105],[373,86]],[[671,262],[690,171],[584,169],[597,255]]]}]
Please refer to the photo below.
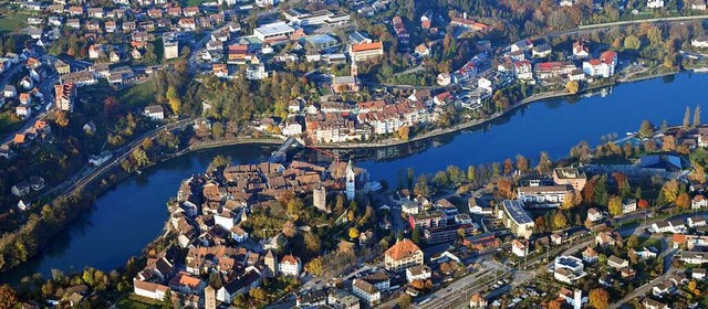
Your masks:
[{"label": "town of red-roofed houses and autumn trees on both river banks", "polygon": [[705,308],[700,106],[679,126],[645,121],[565,159],[409,167],[399,183],[329,151],[400,146],[537,100],[708,70],[704,0],[506,2],[0,4],[0,270],[148,167],[227,145],[282,150],[217,157],[184,180],[164,235],[126,267],[28,276],[0,298]]}]

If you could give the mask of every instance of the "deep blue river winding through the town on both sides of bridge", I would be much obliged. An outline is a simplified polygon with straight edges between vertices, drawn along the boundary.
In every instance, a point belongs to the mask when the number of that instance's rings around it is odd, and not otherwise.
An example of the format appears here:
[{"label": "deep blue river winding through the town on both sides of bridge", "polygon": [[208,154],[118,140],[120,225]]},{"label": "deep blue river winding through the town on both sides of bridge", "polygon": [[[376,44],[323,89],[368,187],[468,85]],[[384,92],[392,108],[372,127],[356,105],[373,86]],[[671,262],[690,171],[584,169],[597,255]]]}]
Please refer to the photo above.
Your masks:
[{"label": "deep blue river winding through the town on both sides of bridge", "polygon": [[[466,168],[502,161],[517,153],[535,160],[541,151],[558,159],[581,140],[595,145],[606,134],[622,137],[626,131],[636,131],[644,119],[657,126],[663,120],[680,124],[686,106],[693,110],[702,103],[701,88],[706,85],[708,75],[681,73],[623,84],[608,89],[606,97],[537,102],[472,130],[405,146],[354,150],[353,158],[356,166],[369,171],[372,180],[386,180],[394,185],[398,171],[409,167],[416,173],[433,173],[449,164]],[[50,276],[52,268],[92,266],[110,270],[123,266],[162,234],[167,220],[165,203],[176,195],[181,180],[204,172],[217,154],[230,156],[235,163],[258,162],[274,149],[253,145],[222,147],[150,167],[101,194],[92,212],[61,233],[42,254],[0,275],[0,281],[18,283],[34,273]]]}]

